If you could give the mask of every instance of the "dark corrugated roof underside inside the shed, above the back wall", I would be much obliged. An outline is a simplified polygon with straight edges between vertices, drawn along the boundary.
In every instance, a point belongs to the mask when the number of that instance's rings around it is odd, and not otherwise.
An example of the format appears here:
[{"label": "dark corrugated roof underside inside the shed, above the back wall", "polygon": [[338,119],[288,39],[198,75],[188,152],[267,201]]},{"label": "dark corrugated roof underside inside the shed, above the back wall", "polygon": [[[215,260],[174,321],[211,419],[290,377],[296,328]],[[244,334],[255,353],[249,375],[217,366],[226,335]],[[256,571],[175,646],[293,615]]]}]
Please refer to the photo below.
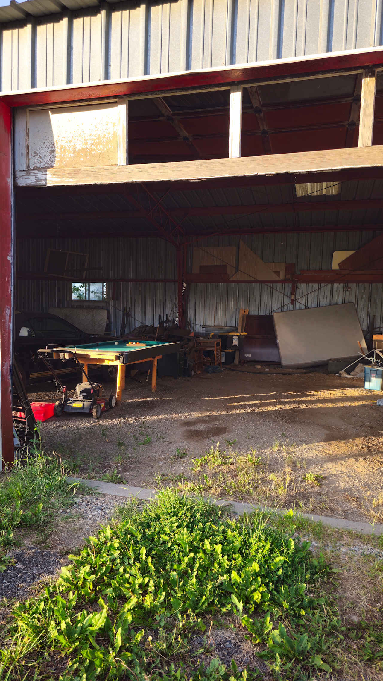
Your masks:
[{"label": "dark corrugated roof underside inside the shed, above the back wall", "polygon": [[[138,190],[135,190],[138,191]],[[368,200],[376,198],[381,200],[383,195],[383,180],[348,180],[342,183],[338,195],[320,196],[308,195],[297,199],[295,197],[295,185],[276,185],[265,187],[236,187],[236,188],[211,188],[196,191],[169,189],[164,193],[154,193],[154,201],[161,202],[167,210],[185,209],[186,215],[176,215],[174,220],[182,222],[182,228],[186,234],[203,234],[204,232],[233,232],[236,229],[266,229],[278,232],[278,229],[293,229],[294,227],[322,227],[337,226],[363,226],[383,223],[383,208],[361,207],[360,204],[352,206],[352,201]],[[137,198],[139,205],[137,206]],[[331,210],[333,202],[345,201],[344,207]],[[71,233],[91,234],[93,231],[102,229],[105,234],[139,234],[154,233],[155,226],[151,219],[137,215],[137,210],[151,210],[154,201],[150,203],[148,195],[140,190],[132,197],[120,185],[116,185],[113,191],[107,187],[93,189],[76,189],[76,193],[67,189],[51,187],[43,190],[31,191],[28,188],[16,189],[16,227],[22,234],[29,231],[59,236],[65,231]],[[316,202],[323,204],[323,210],[315,206],[313,210],[299,210],[299,203],[306,205]],[[278,211],[278,204],[289,204],[294,210]],[[140,209],[141,205],[141,209]],[[225,206],[239,206],[237,212],[228,214]],[[254,206],[254,210],[241,213],[240,206]],[[276,210],[265,212],[257,206],[276,206]],[[188,208],[196,207],[221,207],[215,215],[187,215]],[[102,219],[96,219],[95,213],[101,211]],[[112,215],[108,216],[108,212]],[[133,215],[130,215],[133,211]],[[92,214],[87,219],[87,214]],[[121,215],[116,215],[120,212]],[[208,212],[208,211],[207,211]],[[68,218],[65,220],[65,213]],[[37,219],[33,219],[33,215]],[[48,214],[50,221],[41,220],[41,214]],[[75,214],[76,217],[73,217]],[[54,218],[58,215],[57,219]],[[163,216],[164,217],[164,216]],[[156,210],[152,213],[152,219],[158,225],[161,218]],[[309,268],[309,265],[307,265]]]}]

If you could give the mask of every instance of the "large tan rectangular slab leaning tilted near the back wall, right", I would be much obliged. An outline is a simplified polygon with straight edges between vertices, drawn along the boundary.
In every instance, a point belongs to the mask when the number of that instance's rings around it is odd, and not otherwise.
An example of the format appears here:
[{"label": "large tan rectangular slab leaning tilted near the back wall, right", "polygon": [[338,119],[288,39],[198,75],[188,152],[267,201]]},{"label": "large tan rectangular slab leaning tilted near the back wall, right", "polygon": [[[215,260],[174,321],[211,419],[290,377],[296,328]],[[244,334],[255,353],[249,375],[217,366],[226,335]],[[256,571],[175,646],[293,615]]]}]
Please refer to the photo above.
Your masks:
[{"label": "large tan rectangular slab leaning tilted near the back wall, right", "polygon": [[276,312],[273,323],[282,366],[299,368],[358,355],[365,339],[354,303]]}]

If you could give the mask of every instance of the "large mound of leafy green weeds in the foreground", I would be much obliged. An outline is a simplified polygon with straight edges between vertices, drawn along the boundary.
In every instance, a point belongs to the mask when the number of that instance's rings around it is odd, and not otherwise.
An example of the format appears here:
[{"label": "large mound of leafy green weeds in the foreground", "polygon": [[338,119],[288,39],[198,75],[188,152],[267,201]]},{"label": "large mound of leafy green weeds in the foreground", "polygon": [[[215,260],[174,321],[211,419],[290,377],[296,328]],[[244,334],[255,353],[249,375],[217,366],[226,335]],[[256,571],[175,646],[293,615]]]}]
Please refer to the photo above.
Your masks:
[{"label": "large mound of leafy green weeds in the foreground", "polygon": [[16,606],[0,678],[52,679],[52,659],[65,662],[64,681],[262,678],[234,661],[199,663],[191,642],[212,622],[248,637],[273,678],[329,673],[342,636],[323,595],[329,568],[307,542],[261,516],[225,520],[217,507],[169,490],[123,517],[70,556],[44,595]]}]

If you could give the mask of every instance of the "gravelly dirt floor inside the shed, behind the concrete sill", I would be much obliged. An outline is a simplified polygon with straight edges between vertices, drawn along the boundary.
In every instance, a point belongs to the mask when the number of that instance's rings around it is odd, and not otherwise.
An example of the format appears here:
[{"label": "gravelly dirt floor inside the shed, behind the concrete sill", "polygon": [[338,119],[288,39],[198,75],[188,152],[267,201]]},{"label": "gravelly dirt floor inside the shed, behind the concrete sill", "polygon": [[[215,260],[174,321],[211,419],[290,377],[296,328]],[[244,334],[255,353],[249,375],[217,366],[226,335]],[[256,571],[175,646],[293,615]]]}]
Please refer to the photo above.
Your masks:
[{"label": "gravelly dirt floor inside the shed, behind the concrete sill", "polygon": [[[52,386],[29,387],[31,400],[56,399]],[[272,364],[162,378],[155,394],[141,374],[101,419],[49,419],[41,437],[82,477],[382,522],[381,396],[362,379]]]}]

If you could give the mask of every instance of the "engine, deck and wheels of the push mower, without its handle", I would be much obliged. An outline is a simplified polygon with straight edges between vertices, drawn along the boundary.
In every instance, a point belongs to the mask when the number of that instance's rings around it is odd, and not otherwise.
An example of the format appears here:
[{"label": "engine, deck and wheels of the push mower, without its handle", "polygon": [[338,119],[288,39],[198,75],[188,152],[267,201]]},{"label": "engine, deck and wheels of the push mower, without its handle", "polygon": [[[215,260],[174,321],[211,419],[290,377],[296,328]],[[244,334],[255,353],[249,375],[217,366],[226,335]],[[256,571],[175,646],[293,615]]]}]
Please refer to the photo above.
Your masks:
[{"label": "engine, deck and wheels of the push mower, without its handle", "polygon": [[116,407],[116,395],[109,398],[102,396],[103,387],[100,383],[78,383],[73,398],[67,396],[67,388],[63,388],[63,398],[54,405],[54,415],[62,413],[92,413],[99,419],[103,411]]}]

